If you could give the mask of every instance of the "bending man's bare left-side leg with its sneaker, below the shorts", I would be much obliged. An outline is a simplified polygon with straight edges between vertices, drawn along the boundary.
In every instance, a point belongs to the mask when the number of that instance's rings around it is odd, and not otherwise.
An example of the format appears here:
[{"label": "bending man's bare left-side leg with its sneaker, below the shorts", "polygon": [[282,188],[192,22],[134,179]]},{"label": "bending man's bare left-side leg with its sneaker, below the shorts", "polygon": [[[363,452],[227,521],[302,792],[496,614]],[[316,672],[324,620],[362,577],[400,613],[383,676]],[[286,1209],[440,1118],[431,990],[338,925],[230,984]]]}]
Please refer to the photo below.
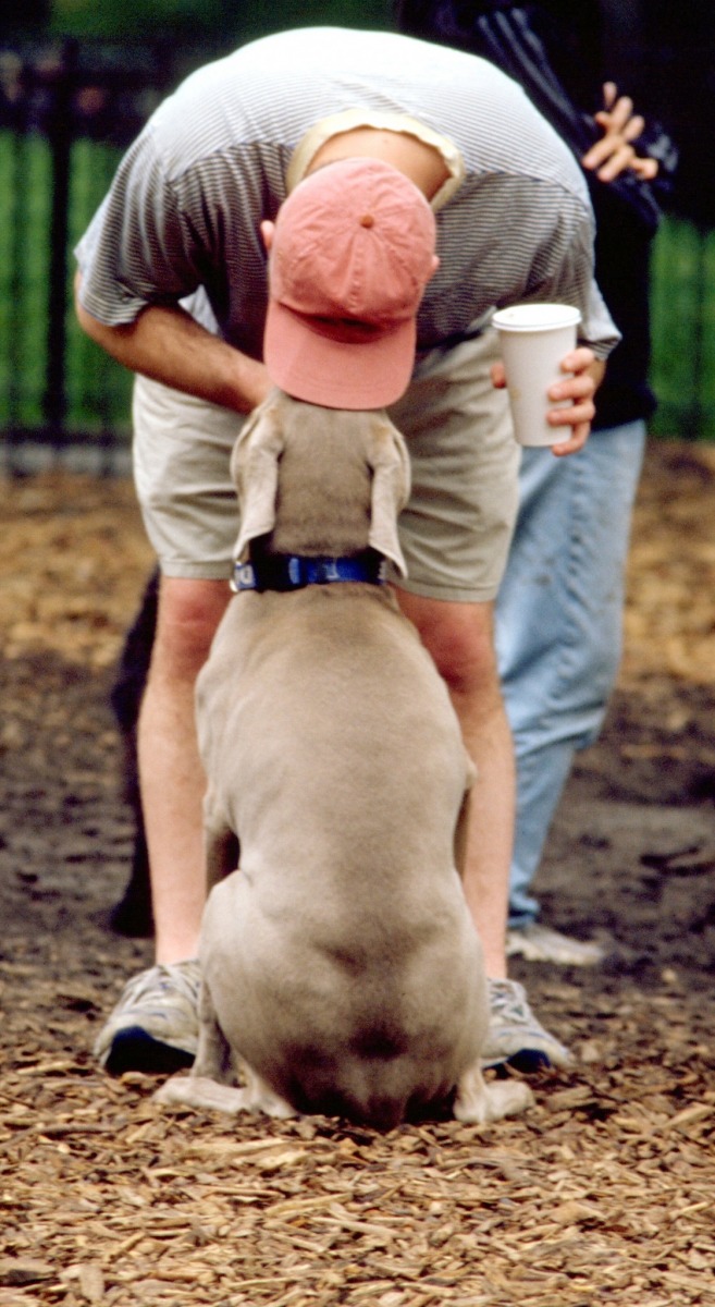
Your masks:
[{"label": "bending man's bare left-side leg with its sneaker, below the shorts", "polygon": [[163,578],[138,761],[157,966],[133,976],[95,1043],[116,1074],[190,1065],[198,1036],[198,929],[206,898],[204,770],[194,685],[230,599],[223,580]]}]

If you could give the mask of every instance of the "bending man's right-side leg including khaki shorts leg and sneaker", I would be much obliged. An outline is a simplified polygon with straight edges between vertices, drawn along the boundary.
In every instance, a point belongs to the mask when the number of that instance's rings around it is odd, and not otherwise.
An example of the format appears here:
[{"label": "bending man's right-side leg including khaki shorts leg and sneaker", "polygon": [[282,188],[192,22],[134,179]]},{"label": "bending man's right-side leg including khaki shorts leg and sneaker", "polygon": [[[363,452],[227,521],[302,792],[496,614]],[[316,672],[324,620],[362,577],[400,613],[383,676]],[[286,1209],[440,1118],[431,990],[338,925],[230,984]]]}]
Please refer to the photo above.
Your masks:
[{"label": "bending man's right-side leg including khaki shorts leg and sneaker", "polygon": [[[496,332],[433,350],[390,416],[404,433],[412,494],[402,512],[403,610],[449,686],[479,770],[470,796],[464,894],[489,976],[489,1061],[522,1051],[564,1064],[566,1050],[505,976],[509,861],[514,826],[511,741],[497,681],[492,601],[517,515],[519,450],[506,393],[492,386]],[[526,1063],[526,1059],[525,1059]]]}]

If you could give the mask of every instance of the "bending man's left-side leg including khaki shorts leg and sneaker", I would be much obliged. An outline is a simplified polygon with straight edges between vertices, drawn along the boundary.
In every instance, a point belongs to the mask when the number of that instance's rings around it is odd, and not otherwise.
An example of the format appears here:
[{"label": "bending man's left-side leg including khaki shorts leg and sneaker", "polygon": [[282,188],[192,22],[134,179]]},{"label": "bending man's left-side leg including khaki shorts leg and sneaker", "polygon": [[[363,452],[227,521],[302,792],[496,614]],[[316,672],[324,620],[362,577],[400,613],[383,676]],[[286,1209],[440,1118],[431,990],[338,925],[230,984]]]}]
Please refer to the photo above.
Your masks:
[{"label": "bending man's left-side leg including khaki shorts leg and sneaker", "polygon": [[239,515],[228,465],[240,425],[228,410],[137,379],[134,478],[162,567],[138,723],[157,965],[128,982],[95,1042],[102,1065],[117,1073],[171,1072],[196,1052],[206,873],[194,682],[231,596]]}]

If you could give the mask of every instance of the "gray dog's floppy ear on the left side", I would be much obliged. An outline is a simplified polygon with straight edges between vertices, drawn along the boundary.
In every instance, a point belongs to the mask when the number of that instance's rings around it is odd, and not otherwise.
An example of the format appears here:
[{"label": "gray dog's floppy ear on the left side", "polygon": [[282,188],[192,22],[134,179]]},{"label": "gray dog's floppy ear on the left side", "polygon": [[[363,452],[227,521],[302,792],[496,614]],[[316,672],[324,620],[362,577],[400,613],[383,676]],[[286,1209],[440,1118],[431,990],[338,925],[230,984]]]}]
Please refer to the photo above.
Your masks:
[{"label": "gray dog's floppy ear on the left side", "polygon": [[240,529],[234,557],[243,559],[252,540],[275,525],[278,461],[283,452],[282,426],[270,397],[244,423],[231,455],[231,476],[239,497]]}]

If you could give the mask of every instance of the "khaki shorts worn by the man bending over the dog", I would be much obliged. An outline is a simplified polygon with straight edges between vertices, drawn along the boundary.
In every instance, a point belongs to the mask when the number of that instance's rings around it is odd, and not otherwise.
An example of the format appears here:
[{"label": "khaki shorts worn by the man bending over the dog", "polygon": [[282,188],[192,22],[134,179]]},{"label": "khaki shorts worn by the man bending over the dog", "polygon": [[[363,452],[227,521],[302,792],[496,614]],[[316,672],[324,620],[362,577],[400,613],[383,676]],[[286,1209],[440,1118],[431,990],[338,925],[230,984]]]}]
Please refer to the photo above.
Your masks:
[{"label": "khaki shorts worn by the man bending over the dog", "polygon": [[[399,519],[403,589],[459,603],[494,597],[518,502],[519,450],[489,365],[496,333],[420,357],[390,409],[410,450],[412,494]],[[231,575],[239,529],[228,460],[243,418],[137,378],[134,477],[167,576]]]}]

